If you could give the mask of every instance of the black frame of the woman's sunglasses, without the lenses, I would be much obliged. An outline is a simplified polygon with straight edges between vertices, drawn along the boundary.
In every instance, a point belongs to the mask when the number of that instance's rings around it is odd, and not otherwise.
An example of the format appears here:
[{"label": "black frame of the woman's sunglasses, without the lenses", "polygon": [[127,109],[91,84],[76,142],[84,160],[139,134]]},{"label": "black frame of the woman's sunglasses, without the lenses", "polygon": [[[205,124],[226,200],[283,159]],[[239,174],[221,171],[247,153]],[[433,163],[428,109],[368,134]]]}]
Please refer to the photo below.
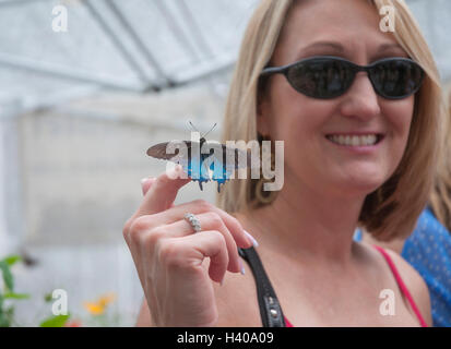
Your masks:
[{"label": "black frame of the woman's sunglasses, without the lenses", "polygon": [[[298,65],[298,64],[305,63],[305,62],[319,61],[319,60],[324,60],[324,59],[325,59],[325,60],[333,60],[333,61],[343,62],[343,63],[345,63],[345,64],[349,68],[351,73],[353,74],[353,79],[352,79],[352,81],[351,81],[351,83],[349,83],[349,86],[348,86],[347,88],[345,88],[342,93],[340,93],[339,95],[334,95],[333,97],[317,97],[317,96],[312,96],[311,94],[307,94],[307,93],[304,92],[304,91],[299,91],[298,88],[296,88],[296,87],[292,84],[292,82],[289,81],[289,77],[288,77],[288,71],[289,71],[289,69],[292,69],[292,68],[294,68],[294,67],[296,67],[296,65]],[[384,95],[383,93],[381,93],[380,91],[378,91],[378,88],[375,86],[375,82],[373,82],[372,79],[371,79],[371,70],[372,70],[375,67],[377,67],[377,65],[379,65],[379,64],[381,64],[381,63],[391,62],[391,61],[396,61],[396,62],[403,61],[403,62],[407,62],[407,63],[410,63],[410,64],[414,64],[415,67],[419,68],[419,71],[420,71],[420,73],[422,73],[422,76],[420,76],[418,86],[417,86],[416,88],[414,88],[414,91],[413,91],[412,93],[410,93],[410,94],[407,94],[407,95],[403,95],[403,96],[395,96],[395,97],[393,97],[393,96],[387,96],[387,95]],[[263,69],[263,71],[260,73],[260,77],[266,77],[266,76],[270,76],[270,75],[272,75],[272,74],[283,74],[283,75],[285,75],[285,77],[286,77],[286,80],[288,81],[289,85],[290,85],[294,89],[296,89],[297,92],[301,93],[302,95],[306,95],[306,96],[309,96],[309,97],[312,97],[312,98],[317,98],[317,99],[333,99],[333,98],[337,98],[337,97],[344,95],[344,94],[351,88],[351,86],[353,85],[353,83],[354,83],[354,81],[355,81],[355,77],[356,77],[356,75],[357,75],[358,72],[367,72],[368,79],[370,80],[371,85],[372,85],[372,88],[375,88],[375,92],[376,92],[379,96],[381,96],[381,97],[383,97],[383,98],[387,98],[387,99],[404,99],[404,98],[407,98],[407,97],[412,96],[413,94],[417,93],[418,89],[422,87],[423,81],[424,81],[424,77],[425,77],[425,71],[424,71],[424,69],[423,69],[417,62],[415,62],[414,60],[412,60],[412,59],[410,59],[410,58],[404,58],[404,57],[390,57],[390,58],[383,58],[383,59],[377,60],[376,62],[372,62],[371,64],[368,64],[368,65],[358,65],[358,64],[353,63],[352,61],[349,61],[349,60],[347,60],[347,59],[344,59],[344,58],[341,58],[341,57],[335,57],[335,56],[313,56],[313,57],[309,57],[309,58],[306,58],[306,59],[301,59],[301,60],[299,60],[299,61],[297,61],[297,62],[294,62],[294,63],[290,63],[290,64],[286,64],[286,65],[282,65],[282,67],[266,67],[266,68]]]}]

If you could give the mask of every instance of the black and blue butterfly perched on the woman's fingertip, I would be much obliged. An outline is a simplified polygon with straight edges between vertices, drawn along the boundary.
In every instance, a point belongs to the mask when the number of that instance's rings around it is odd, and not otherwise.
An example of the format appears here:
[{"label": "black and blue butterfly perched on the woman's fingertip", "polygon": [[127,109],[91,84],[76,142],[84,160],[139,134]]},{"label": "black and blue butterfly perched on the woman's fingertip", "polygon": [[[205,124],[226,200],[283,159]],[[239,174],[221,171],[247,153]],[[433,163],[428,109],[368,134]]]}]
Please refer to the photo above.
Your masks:
[{"label": "black and blue butterfly perched on the woman's fingertip", "polygon": [[[195,130],[191,122],[190,124]],[[215,125],[216,123],[210,131]],[[221,185],[230,179],[236,169],[250,167],[251,157],[248,152],[239,148],[206,141],[207,133],[200,136],[199,142],[173,141],[155,144],[147,149],[146,154],[157,159],[181,165],[191,180],[199,182],[201,190],[203,190],[203,182],[210,180],[217,182],[217,192],[221,192]]]}]

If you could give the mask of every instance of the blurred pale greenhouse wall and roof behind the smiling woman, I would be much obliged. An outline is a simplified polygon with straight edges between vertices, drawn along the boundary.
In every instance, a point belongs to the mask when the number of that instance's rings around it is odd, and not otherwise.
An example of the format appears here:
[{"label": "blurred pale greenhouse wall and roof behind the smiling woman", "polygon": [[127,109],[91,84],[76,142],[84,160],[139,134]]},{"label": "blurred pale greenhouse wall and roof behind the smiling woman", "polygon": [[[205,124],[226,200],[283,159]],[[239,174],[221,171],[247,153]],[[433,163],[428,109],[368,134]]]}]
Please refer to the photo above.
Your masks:
[{"label": "blurred pale greenhouse wall and roof behind the smiling woman", "polygon": [[[0,260],[22,256],[14,290],[29,294],[11,305],[15,325],[50,316],[55,289],[79,325],[134,325],[143,293],[122,226],[140,180],[166,166],[145,151],[189,139],[188,121],[217,122],[209,139],[219,140],[257,3],[0,0]],[[449,81],[451,1],[407,3]],[[215,192],[190,183],[177,203]]]}]

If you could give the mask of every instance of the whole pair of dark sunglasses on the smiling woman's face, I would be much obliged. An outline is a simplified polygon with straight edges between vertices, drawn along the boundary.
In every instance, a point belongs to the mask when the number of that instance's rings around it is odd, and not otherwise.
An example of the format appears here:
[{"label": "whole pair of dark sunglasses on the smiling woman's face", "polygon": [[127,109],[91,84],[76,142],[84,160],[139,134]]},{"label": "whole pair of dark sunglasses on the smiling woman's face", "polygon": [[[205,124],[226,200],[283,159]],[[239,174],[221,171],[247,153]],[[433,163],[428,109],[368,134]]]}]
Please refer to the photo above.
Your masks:
[{"label": "whole pair of dark sunglasses on the smiling woman's face", "polygon": [[333,56],[317,56],[283,67],[265,68],[260,77],[284,74],[297,92],[313,98],[335,98],[351,87],[358,72],[367,72],[376,93],[387,99],[402,99],[416,93],[425,72],[408,58],[384,58],[357,65]]}]

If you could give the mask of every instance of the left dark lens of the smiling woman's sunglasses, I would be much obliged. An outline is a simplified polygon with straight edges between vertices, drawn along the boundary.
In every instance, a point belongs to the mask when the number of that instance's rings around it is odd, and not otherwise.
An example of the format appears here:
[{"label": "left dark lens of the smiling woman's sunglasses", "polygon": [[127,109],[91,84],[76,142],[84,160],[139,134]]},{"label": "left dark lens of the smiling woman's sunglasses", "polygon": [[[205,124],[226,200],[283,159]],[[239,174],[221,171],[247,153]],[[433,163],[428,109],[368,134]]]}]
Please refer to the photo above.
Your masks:
[{"label": "left dark lens of the smiling woman's sunglasses", "polygon": [[353,70],[346,62],[314,59],[299,62],[287,72],[292,86],[313,98],[334,98],[342,95],[353,82]]}]

